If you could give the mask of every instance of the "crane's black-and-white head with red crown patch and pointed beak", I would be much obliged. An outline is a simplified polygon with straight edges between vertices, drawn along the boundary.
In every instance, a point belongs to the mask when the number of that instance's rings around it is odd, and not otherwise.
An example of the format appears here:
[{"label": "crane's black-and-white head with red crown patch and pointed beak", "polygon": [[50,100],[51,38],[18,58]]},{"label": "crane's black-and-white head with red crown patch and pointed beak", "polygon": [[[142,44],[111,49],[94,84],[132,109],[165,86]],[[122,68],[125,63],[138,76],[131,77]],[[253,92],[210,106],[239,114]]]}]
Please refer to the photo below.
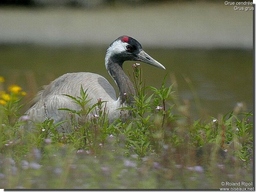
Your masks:
[{"label": "crane's black-and-white head with red crown patch and pointed beak", "polygon": [[128,60],[142,61],[157,68],[165,69],[161,63],[153,59],[142,49],[142,46],[136,39],[128,36],[121,36],[110,44],[105,57],[106,68],[108,67],[109,59],[120,63],[120,65]]}]

